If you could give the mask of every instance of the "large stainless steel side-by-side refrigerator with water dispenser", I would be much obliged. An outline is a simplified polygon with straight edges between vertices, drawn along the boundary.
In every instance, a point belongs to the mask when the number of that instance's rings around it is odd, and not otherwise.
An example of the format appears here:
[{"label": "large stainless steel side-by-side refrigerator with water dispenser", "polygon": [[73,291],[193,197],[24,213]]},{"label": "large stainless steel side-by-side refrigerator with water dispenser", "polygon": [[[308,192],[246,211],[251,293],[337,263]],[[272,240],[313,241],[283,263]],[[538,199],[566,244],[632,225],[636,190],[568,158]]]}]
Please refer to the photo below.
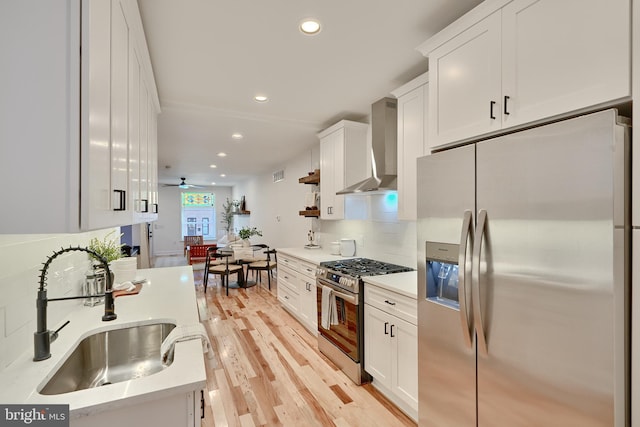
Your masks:
[{"label": "large stainless steel side-by-side refrigerator with water dispenser", "polygon": [[606,110],[418,160],[420,426],[624,426],[628,126]]}]

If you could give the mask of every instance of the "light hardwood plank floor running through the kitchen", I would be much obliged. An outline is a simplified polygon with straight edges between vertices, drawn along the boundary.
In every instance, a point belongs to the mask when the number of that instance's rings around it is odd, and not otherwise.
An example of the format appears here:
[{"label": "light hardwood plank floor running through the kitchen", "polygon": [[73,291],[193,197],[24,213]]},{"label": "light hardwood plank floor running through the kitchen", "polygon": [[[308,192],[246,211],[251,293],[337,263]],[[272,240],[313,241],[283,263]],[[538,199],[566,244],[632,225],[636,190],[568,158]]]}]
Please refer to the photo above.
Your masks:
[{"label": "light hardwood plank floor running through the kitchen", "polygon": [[[157,258],[154,266],[184,265],[182,257]],[[318,351],[310,334],[267,289],[230,289],[195,266],[201,322],[216,357],[205,359],[207,390],[203,426],[415,426],[372,385],[356,386]],[[212,282],[213,280],[213,282]]]}]

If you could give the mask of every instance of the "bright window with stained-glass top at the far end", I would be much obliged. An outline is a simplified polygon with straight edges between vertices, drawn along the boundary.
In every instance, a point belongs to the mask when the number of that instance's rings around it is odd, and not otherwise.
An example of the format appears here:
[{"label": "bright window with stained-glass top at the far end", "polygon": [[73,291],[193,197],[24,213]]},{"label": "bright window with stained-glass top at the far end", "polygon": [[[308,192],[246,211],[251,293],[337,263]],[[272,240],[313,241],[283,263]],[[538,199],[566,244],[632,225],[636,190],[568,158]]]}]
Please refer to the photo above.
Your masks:
[{"label": "bright window with stained-glass top at the far end", "polygon": [[182,235],[216,238],[216,196],[213,193],[182,193]]}]

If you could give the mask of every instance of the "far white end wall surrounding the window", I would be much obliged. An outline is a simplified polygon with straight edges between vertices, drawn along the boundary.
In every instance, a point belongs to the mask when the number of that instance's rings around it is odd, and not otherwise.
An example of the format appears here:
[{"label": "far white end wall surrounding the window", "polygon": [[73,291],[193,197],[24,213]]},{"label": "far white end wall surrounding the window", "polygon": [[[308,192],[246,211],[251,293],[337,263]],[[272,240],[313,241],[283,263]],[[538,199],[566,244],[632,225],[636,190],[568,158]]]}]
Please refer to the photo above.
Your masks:
[{"label": "far white end wall surrounding the window", "polygon": [[153,256],[182,255],[181,227],[181,199],[183,191],[201,191],[215,193],[216,198],[216,227],[221,237],[223,225],[220,222],[220,212],[227,197],[231,199],[231,187],[209,186],[195,190],[182,190],[178,187],[160,187],[158,189],[158,220],[152,223]]}]

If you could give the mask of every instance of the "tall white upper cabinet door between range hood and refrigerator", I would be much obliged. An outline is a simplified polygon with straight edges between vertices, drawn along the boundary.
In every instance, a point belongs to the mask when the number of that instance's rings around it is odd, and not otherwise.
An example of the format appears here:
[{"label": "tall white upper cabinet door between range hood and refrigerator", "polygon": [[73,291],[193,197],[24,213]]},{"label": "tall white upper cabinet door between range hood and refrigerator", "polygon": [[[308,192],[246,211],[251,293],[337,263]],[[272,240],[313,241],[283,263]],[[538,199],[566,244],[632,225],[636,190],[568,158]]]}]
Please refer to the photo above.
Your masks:
[{"label": "tall white upper cabinet door between range hood and refrigerator", "polygon": [[398,98],[398,219],[417,218],[416,160],[425,152],[428,86]]}]

